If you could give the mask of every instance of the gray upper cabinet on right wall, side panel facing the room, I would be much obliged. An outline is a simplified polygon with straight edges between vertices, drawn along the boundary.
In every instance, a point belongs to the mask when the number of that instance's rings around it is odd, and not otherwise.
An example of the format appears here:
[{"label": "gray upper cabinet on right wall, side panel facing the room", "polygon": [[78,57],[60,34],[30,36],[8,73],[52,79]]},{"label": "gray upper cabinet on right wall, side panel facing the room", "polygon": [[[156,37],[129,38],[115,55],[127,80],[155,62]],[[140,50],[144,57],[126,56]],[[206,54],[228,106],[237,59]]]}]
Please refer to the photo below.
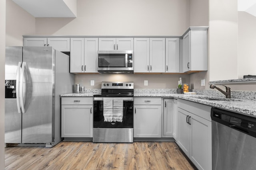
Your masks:
[{"label": "gray upper cabinet on right wall, side panel facing the room", "polygon": [[183,55],[181,72],[207,70],[207,29],[190,28],[183,36]]}]

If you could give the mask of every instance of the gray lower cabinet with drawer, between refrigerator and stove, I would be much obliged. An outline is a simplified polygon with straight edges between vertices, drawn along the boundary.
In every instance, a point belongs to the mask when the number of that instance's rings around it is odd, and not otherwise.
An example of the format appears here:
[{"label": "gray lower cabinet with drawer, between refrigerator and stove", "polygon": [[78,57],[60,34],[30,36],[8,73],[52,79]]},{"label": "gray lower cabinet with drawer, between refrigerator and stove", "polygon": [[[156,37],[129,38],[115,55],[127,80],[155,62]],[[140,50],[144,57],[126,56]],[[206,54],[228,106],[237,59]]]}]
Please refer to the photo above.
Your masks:
[{"label": "gray lower cabinet with drawer, between refrigerator and stove", "polygon": [[61,137],[92,137],[91,97],[62,97]]}]

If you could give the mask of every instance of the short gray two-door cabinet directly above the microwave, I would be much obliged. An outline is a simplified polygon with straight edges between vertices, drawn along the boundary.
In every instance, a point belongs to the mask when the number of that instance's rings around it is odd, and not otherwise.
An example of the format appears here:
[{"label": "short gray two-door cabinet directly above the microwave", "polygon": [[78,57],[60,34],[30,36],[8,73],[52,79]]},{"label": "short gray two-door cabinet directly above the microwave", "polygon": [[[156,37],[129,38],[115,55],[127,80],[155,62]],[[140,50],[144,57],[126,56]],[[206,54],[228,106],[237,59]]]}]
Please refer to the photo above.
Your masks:
[{"label": "short gray two-door cabinet directly above the microwave", "polygon": [[99,38],[99,51],[133,51],[133,38]]}]

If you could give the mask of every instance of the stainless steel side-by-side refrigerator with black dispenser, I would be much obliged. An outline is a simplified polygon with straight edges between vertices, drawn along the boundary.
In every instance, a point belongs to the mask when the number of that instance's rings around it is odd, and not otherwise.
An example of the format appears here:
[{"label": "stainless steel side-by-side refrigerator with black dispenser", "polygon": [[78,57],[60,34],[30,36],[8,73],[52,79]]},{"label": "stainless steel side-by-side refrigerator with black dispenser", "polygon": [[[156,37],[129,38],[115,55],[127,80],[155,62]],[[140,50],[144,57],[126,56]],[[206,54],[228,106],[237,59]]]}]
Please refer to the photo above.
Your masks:
[{"label": "stainless steel side-by-side refrigerator with black dispenser", "polygon": [[6,47],[6,144],[53,147],[62,140],[60,94],[74,84],[69,61],[52,47]]}]

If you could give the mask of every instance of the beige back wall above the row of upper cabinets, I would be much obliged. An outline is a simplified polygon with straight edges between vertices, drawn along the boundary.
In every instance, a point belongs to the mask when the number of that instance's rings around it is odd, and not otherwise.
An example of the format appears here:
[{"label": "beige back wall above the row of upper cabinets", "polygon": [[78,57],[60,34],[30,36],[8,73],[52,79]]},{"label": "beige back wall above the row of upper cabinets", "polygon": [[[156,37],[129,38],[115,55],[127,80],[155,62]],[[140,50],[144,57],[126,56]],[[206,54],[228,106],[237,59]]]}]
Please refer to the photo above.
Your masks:
[{"label": "beige back wall above the row of upper cabinets", "polygon": [[182,35],[189,0],[77,0],[77,18],[36,18],[37,35]]}]

